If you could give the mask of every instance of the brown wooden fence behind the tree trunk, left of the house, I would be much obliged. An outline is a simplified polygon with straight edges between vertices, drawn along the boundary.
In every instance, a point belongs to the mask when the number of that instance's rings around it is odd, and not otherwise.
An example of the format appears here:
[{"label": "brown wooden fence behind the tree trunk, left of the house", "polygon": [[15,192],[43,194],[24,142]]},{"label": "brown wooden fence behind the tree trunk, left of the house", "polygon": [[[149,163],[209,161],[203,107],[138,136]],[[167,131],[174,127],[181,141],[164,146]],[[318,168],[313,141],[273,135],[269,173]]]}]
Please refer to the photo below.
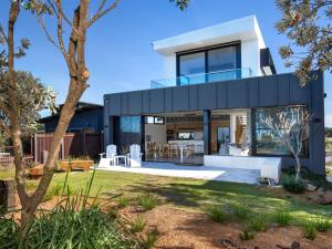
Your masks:
[{"label": "brown wooden fence behind the tree trunk, left of the house", "polygon": [[[53,133],[35,134],[32,139],[34,160],[44,163],[51,147]],[[103,135],[101,133],[66,133],[61,143],[59,158],[66,159],[77,156],[97,158],[102,151]]]}]

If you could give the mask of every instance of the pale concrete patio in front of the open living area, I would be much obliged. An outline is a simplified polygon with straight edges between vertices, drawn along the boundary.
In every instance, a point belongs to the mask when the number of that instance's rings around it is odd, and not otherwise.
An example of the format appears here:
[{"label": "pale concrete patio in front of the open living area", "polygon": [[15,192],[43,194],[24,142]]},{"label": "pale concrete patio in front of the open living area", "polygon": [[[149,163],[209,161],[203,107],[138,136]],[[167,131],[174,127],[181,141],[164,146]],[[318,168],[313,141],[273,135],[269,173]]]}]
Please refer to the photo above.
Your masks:
[{"label": "pale concrete patio in front of the open living area", "polygon": [[260,176],[258,169],[240,169],[212,166],[180,166],[170,163],[144,162],[141,168],[126,166],[110,166],[97,170],[127,172],[157,176],[188,177],[196,179],[257,184]]}]

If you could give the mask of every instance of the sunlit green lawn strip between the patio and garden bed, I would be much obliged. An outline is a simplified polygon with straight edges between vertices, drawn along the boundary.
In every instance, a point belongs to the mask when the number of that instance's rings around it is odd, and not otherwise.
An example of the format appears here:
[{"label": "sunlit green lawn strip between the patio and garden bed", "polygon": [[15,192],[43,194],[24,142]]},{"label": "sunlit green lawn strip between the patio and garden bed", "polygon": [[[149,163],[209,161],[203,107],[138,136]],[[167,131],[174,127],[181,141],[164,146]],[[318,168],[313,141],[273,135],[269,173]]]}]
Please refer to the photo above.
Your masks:
[{"label": "sunlit green lawn strip between the patio and garden bed", "polygon": [[[68,184],[75,191],[85,187],[91,175],[92,172],[70,173]],[[64,173],[55,174],[52,186],[63,184],[64,179]],[[28,181],[29,188],[33,188],[37,184],[37,180]],[[97,170],[91,195],[96,195],[100,189],[100,197],[103,198],[124,194],[135,199],[138,193],[151,193],[166,205],[191,211],[201,211],[201,207],[209,203],[224,205],[225,208],[246,204],[252,211],[271,216],[278,210],[283,210],[290,214],[292,225],[304,225],[317,217],[317,214],[323,218],[332,217],[332,209],[329,206],[310,204],[304,198],[302,200],[282,189],[246,184]]]}]

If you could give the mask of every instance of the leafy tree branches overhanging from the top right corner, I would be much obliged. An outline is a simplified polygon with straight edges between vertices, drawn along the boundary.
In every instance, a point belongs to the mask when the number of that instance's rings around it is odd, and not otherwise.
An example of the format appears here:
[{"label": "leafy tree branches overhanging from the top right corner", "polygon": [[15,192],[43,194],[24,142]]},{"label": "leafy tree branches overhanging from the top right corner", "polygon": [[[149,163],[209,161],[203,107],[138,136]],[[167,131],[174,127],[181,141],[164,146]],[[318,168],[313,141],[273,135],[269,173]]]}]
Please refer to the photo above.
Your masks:
[{"label": "leafy tree branches overhanging from the top right corner", "polygon": [[311,71],[330,71],[332,66],[332,1],[277,0],[282,19],[276,28],[291,40],[279,49],[287,68],[294,68],[302,85]]}]

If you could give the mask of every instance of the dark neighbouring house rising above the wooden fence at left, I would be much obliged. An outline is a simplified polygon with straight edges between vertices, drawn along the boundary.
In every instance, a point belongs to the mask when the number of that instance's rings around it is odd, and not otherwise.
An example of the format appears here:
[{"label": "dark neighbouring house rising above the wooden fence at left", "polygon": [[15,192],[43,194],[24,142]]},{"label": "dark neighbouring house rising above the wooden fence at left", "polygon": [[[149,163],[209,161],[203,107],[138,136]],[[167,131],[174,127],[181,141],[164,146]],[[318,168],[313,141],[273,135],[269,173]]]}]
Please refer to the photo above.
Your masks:
[{"label": "dark neighbouring house rising above the wooden fence at left", "polygon": [[[61,110],[62,105],[59,106]],[[54,115],[46,116],[40,120],[44,126],[45,133],[55,131],[59,122],[60,112]],[[69,133],[81,132],[98,133],[103,131],[103,106],[92,103],[79,102],[75,108],[75,114],[68,127]]]}]

